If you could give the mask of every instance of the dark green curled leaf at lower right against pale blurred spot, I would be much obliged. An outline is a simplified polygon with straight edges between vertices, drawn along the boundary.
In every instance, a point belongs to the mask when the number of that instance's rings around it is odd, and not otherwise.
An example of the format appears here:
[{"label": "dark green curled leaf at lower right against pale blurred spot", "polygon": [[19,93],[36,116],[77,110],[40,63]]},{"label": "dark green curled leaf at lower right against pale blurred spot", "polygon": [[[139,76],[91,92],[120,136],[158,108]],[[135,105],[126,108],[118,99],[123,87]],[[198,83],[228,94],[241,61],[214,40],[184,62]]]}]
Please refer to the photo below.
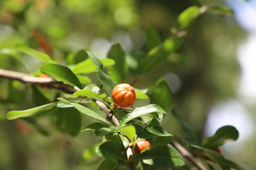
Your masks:
[{"label": "dark green curled leaf at lower right against pale blurred spot", "polygon": [[209,149],[215,149],[222,146],[227,141],[238,139],[239,133],[233,126],[223,126],[219,128],[211,137],[206,137],[202,141],[202,146]]}]

